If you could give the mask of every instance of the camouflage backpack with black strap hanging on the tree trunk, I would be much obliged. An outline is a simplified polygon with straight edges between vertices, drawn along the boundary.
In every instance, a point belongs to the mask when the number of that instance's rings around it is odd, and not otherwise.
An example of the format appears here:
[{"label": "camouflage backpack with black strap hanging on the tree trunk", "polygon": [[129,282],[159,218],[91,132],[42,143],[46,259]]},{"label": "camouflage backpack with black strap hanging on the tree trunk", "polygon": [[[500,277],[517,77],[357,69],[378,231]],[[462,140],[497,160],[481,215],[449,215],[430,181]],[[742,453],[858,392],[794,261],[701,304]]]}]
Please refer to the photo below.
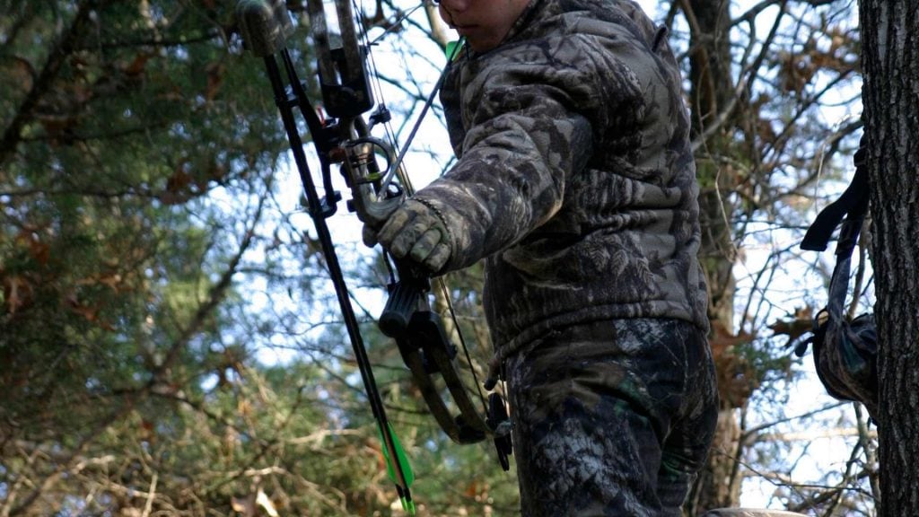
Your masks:
[{"label": "camouflage backpack with black strap hanging on the tree trunk", "polygon": [[800,343],[795,353],[802,356],[812,343],[814,365],[826,391],[841,400],[861,402],[876,417],[879,414],[878,332],[874,315],[850,319],[844,308],[852,250],[868,212],[866,154],[863,136],[862,146],[855,155],[855,178],[837,201],[817,215],[801,241],[802,249],[823,251],[842,221],[827,306],[814,317],[811,337]]}]

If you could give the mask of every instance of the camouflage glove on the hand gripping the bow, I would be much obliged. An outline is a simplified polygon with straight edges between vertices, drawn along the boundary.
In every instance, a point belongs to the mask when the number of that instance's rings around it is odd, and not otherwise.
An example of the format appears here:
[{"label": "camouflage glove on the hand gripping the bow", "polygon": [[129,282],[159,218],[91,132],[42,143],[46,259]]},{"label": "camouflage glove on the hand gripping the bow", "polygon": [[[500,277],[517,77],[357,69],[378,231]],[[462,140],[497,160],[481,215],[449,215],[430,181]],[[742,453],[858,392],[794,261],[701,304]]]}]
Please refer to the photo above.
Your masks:
[{"label": "camouflage glove on the hand gripping the bow", "polygon": [[[368,228],[364,243],[369,244]],[[376,240],[396,259],[410,259],[436,273],[450,258],[450,232],[443,215],[428,201],[410,199],[390,216]]]}]

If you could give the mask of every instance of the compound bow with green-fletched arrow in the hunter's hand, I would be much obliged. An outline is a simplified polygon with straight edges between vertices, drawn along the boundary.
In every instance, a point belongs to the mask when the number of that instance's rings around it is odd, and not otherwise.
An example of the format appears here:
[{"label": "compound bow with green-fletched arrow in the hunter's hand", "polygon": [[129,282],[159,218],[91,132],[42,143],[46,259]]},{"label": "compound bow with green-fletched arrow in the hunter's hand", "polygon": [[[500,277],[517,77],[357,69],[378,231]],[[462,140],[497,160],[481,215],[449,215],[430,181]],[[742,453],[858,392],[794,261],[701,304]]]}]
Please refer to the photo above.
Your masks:
[{"label": "compound bow with green-fletched arrow in the hunter's hand", "polygon": [[[328,263],[329,274],[335,284],[335,293],[355,351],[361,379],[369,396],[370,408],[380,428],[390,477],[399,489],[403,505],[411,510],[411,467],[405,461],[402,447],[386,418],[357,317],[351,306],[344,275],[335,255],[335,246],[325,222],[335,213],[337,202],[341,201],[341,195],[333,187],[333,165],[339,166],[346,185],[351,190],[349,209],[357,213],[361,222],[373,227],[383,224],[405,198],[412,194],[411,184],[405,178],[401,167],[403,155],[393,160],[392,145],[370,135],[373,125],[389,120],[389,112],[380,105],[369,115],[370,124],[362,118],[364,113],[374,108],[376,102],[367,69],[369,45],[361,44],[355,26],[350,21],[355,19],[351,0],[335,0],[335,15],[339,26],[339,32],[336,34],[329,31],[322,0],[308,0],[307,6],[318,60],[323,108],[332,117],[330,119],[320,119],[312,108],[306,88],[294,69],[285,43],[292,32],[292,26],[284,2],[241,0],[237,4],[237,17],[246,46],[255,55],[265,59],[275,102],[288,134],[291,152],[309,204],[308,210]],[[340,40],[341,45],[334,47],[333,39]],[[287,76],[286,84],[281,74],[282,67],[284,75]],[[443,77],[441,81],[442,79]],[[433,98],[432,94],[429,102],[433,101]],[[294,108],[300,110],[312,135],[312,143],[322,167],[323,198],[319,197],[312,179],[294,118]],[[390,183],[393,175],[400,178],[398,184]],[[458,443],[474,443],[493,438],[499,461],[507,470],[507,456],[511,454],[511,443],[504,400],[501,396],[492,394],[486,403],[485,397],[482,396],[482,388],[476,380],[475,391],[481,398],[482,410],[477,408],[470,396],[470,390],[462,382],[456,361],[458,349],[448,339],[440,316],[431,310],[428,299],[431,294],[431,279],[409,262],[394,262],[398,280],[393,275],[389,285],[390,297],[380,316],[380,329],[396,341],[403,362],[411,371],[414,383],[425,398],[427,407],[450,439]],[[439,289],[447,293],[442,283]],[[446,296],[445,298],[448,299]],[[462,343],[462,346],[466,348],[465,343]],[[468,350],[466,356],[474,377]],[[451,407],[456,408],[456,414]]]}]

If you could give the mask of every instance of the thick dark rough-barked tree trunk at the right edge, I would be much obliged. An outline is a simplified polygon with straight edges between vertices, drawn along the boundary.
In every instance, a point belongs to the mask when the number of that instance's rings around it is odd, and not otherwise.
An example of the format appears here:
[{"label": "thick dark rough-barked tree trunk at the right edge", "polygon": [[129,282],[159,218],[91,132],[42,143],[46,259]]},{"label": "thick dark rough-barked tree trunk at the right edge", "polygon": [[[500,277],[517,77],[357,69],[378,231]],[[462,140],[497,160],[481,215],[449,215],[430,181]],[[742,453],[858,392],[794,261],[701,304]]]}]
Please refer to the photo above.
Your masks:
[{"label": "thick dark rough-barked tree trunk at the right edge", "polygon": [[879,515],[919,515],[919,1],[861,0],[879,327]]}]

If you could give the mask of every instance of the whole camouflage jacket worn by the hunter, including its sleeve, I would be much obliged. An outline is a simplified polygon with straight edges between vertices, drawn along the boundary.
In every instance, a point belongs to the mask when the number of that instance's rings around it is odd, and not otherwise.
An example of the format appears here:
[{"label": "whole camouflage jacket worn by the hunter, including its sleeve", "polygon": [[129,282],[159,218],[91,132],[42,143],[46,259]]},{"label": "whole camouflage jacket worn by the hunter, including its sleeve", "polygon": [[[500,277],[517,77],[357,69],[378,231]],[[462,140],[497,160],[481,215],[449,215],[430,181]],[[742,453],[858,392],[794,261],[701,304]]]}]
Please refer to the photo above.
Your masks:
[{"label": "whole camouflage jacket worn by the hunter, including its sleeve", "polygon": [[500,46],[464,50],[441,100],[459,160],[416,193],[448,270],[485,259],[498,357],[553,327],[664,317],[708,327],[680,75],[629,0],[533,0]]}]

